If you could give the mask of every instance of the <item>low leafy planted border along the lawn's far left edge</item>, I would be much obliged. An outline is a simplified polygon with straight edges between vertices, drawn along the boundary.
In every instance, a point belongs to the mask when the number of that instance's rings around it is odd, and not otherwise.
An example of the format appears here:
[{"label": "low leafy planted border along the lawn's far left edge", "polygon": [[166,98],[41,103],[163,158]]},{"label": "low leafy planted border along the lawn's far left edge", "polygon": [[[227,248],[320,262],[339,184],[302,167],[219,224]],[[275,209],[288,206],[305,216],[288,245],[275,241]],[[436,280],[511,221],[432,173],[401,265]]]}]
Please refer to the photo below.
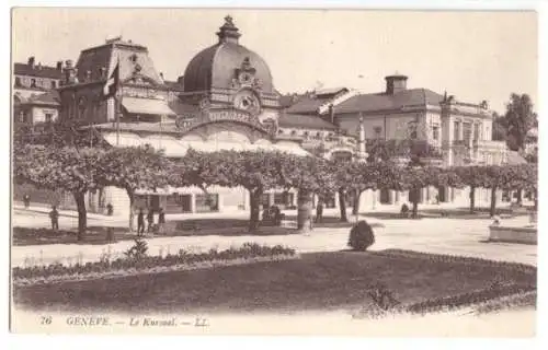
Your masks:
[{"label": "low leafy planted border along the lawn's far left edge", "polygon": [[35,267],[14,267],[12,269],[13,280],[38,279],[58,276],[79,276],[88,273],[101,273],[116,270],[142,270],[155,267],[169,267],[175,265],[193,265],[205,261],[249,259],[256,257],[277,257],[277,256],[294,256],[295,249],[281,245],[261,246],[254,243],[246,243],[240,248],[220,250],[209,249],[207,253],[191,254],[181,249],[178,255],[167,256],[142,256],[139,258],[124,257],[115,260],[102,258],[101,261],[76,264],[65,266],[61,264],[52,264],[47,266]]}]

